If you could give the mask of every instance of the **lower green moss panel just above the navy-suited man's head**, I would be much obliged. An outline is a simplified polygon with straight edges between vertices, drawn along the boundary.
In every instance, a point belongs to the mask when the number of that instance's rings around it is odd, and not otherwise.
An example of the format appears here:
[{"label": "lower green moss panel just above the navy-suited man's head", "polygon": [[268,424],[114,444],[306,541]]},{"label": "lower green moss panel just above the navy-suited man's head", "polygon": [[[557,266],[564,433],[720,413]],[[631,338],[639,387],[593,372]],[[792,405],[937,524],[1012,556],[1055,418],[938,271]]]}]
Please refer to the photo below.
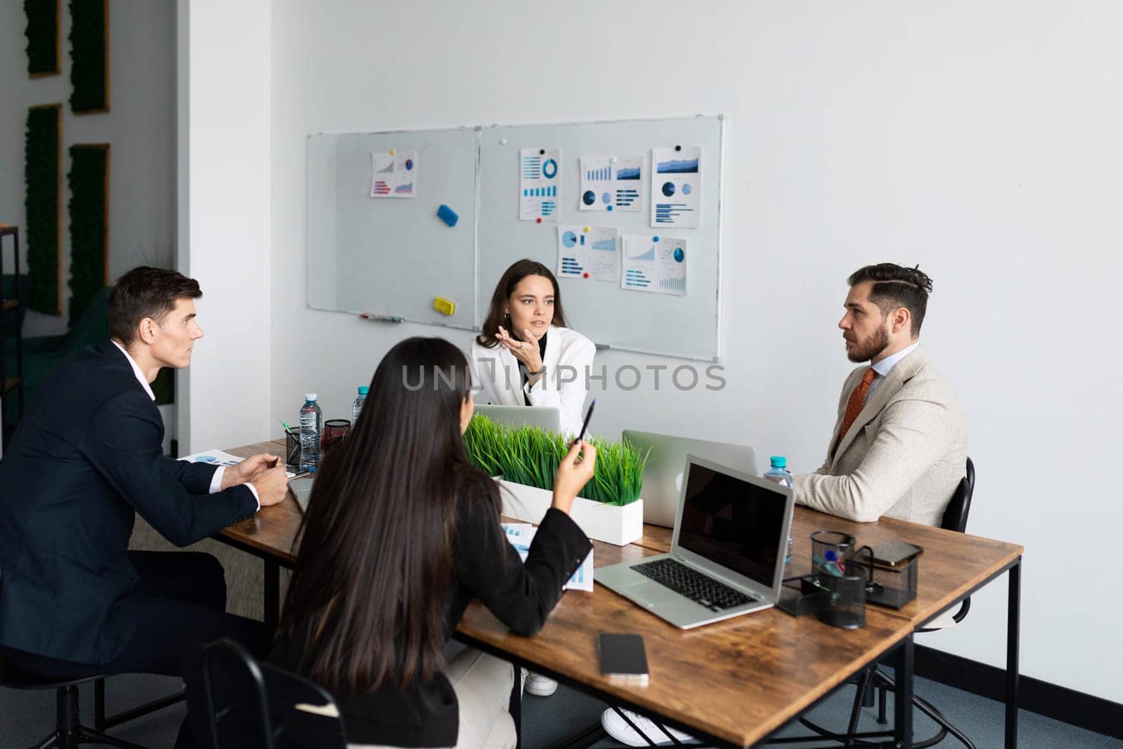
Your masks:
[{"label": "lower green moss panel just above the navy-suited man's head", "polygon": [[109,239],[109,144],[71,146],[71,301],[70,321],[82,316],[90,300],[107,285]]}]

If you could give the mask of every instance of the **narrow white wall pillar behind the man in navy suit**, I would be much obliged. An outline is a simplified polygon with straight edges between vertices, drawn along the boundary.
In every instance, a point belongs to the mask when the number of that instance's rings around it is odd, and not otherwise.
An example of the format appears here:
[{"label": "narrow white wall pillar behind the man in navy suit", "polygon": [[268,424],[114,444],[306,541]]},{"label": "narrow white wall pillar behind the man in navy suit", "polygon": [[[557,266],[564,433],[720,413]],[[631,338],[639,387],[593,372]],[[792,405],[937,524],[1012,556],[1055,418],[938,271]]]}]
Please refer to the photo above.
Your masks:
[{"label": "narrow white wall pillar behind the man in navy suit", "polygon": [[268,0],[179,0],[179,268],[206,337],[179,371],[180,453],[268,435]]}]

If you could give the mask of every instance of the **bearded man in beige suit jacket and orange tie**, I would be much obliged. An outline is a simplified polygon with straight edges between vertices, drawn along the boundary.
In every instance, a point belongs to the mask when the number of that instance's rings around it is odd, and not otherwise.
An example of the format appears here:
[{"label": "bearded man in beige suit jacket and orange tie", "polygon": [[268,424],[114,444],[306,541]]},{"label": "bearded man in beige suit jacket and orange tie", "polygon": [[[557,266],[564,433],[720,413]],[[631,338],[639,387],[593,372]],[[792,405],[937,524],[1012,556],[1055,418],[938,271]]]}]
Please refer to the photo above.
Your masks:
[{"label": "bearded man in beige suit jacket and orange tie", "polygon": [[840,518],[939,526],[967,463],[967,421],[920,344],[932,280],[893,263],[849,277],[839,321],[851,362],[827,460],[795,501]]}]

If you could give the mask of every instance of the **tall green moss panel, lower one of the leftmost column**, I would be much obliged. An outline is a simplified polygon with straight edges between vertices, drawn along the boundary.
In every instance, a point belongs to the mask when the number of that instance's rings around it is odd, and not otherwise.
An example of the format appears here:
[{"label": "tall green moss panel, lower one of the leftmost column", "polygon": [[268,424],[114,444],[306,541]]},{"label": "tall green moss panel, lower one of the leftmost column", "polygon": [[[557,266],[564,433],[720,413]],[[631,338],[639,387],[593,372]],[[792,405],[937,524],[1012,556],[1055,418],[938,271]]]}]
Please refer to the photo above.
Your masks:
[{"label": "tall green moss panel, lower one of the leftmost column", "polygon": [[27,110],[24,180],[27,221],[27,275],[31,309],[61,314],[60,192],[62,189],[62,104]]}]

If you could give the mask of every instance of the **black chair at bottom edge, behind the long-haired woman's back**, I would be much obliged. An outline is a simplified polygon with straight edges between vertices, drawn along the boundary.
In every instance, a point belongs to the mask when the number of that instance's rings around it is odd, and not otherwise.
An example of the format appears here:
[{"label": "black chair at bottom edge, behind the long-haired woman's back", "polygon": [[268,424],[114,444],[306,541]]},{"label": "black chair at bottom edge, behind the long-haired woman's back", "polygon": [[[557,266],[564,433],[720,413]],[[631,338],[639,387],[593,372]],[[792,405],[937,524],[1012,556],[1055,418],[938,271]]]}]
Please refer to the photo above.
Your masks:
[{"label": "black chair at bottom edge, behind the long-haired woman's back", "polygon": [[347,747],[330,694],[302,676],[258,663],[232,640],[197,646],[184,667],[188,720],[208,749]]}]

